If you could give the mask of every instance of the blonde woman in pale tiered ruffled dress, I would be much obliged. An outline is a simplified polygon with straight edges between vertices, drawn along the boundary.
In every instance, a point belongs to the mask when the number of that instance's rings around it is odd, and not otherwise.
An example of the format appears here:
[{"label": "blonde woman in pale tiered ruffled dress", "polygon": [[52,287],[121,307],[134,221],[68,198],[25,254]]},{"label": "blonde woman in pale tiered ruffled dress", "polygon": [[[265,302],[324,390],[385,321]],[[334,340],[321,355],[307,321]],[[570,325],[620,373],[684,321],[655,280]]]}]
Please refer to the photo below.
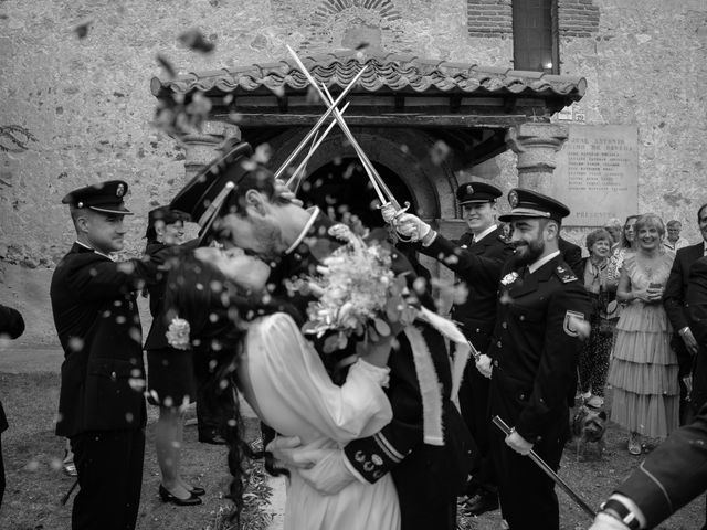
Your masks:
[{"label": "blonde woman in pale tiered ruffled dress", "polygon": [[665,225],[653,213],[635,223],[636,252],[625,257],[616,298],[626,307],[616,325],[609,373],[611,420],[631,433],[629,452],[640,455],[641,436],[665,438],[678,426],[678,364],[662,297],[673,256],[663,246]]}]

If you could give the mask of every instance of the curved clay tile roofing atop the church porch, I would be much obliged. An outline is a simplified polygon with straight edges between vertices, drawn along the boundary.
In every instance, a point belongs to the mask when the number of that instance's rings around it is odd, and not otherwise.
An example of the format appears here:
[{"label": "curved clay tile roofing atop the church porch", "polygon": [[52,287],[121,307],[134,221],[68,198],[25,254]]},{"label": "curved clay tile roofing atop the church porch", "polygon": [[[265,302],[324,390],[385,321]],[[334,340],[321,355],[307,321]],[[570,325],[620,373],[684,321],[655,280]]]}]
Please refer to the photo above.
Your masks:
[{"label": "curved clay tile roofing atop the church porch", "polygon": [[[354,92],[395,92],[408,94],[446,93],[460,95],[527,95],[579,100],[587,89],[583,77],[550,75],[472,63],[453,63],[393,53],[339,51],[303,57],[307,70],[328,86],[346,86],[363,64],[369,70]],[[169,81],[155,77],[152,94],[193,91],[218,94],[268,94],[307,88],[307,78],[294,61],[253,64],[212,72],[190,73]]]}]

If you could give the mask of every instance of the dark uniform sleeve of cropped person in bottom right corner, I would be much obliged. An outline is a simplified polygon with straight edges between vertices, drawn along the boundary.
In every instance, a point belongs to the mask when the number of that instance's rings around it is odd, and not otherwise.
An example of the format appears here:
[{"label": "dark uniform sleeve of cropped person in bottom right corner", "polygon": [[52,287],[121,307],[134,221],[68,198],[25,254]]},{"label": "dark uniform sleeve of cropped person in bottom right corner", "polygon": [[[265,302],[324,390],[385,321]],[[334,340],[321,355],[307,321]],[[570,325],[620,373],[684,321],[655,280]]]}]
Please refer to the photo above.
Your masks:
[{"label": "dark uniform sleeve of cropped person in bottom right corner", "polygon": [[707,406],[671,433],[616,489],[635,501],[655,528],[707,489]]}]

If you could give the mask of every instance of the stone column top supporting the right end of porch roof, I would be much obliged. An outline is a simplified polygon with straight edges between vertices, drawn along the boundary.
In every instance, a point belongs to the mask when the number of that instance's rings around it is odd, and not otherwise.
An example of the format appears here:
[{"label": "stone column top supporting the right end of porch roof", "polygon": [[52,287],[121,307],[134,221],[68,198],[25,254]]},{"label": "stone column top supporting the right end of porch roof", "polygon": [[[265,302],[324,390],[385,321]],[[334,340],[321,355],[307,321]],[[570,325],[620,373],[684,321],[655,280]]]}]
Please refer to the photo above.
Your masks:
[{"label": "stone column top supporting the right end of porch roof", "polygon": [[506,144],[518,155],[519,188],[551,194],[557,152],[567,137],[567,126],[558,124],[530,123],[508,129]]}]

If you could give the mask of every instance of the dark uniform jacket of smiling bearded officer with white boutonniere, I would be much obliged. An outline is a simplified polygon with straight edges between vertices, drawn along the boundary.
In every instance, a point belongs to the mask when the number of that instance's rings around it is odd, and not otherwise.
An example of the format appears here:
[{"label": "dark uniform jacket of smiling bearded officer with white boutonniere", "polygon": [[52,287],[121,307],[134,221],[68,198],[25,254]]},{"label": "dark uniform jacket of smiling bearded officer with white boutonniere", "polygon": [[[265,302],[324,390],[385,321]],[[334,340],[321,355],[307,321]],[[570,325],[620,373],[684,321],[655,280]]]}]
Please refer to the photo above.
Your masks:
[{"label": "dark uniform jacket of smiling bearded officer with white boutonniere", "polygon": [[548,433],[569,434],[567,410],[581,346],[577,324],[589,324],[590,308],[584,286],[560,256],[525,277],[523,269],[516,272],[511,261],[500,280],[488,354],[492,386],[498,390],[492,395],[503,395],[504,402],[492,399],[492,413],[537,443]]}]

